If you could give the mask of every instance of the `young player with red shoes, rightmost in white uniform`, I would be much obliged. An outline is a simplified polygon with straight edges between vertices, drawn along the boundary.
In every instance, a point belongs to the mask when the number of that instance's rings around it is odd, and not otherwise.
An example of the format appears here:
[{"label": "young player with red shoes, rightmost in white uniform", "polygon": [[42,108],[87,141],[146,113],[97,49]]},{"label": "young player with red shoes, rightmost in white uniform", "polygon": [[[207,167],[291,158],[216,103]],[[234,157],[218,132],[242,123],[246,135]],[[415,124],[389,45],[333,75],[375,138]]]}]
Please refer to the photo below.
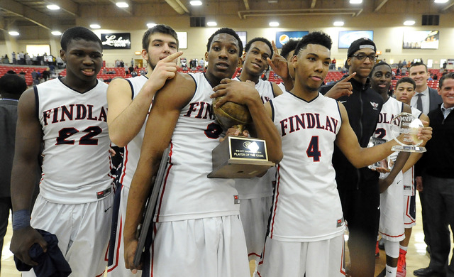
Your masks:
[{"label": "young player with red shoes, rightmost in white uniform", "polygon": [[[414,97],[416,82],[410,77],[402,77],[396,83],[394,95],[396,99],[405,104],[411,103],[411,98]],[[416,118],[429,122],[428,116],[423,114],[419,109],[411,107],[411,114]],[[421,153],[411,153],[410,158],[406,161],[403,172],[404,183],[404,227],[405,239],[400,241],[399,260],[397,261],[397,277],[406,276],[406,251],[408,250],[411,237],[411,229],[416,224],[416,192],[414,183],[414,164],[421,158]],[[414,158],[414,160],[412,160]]]}]

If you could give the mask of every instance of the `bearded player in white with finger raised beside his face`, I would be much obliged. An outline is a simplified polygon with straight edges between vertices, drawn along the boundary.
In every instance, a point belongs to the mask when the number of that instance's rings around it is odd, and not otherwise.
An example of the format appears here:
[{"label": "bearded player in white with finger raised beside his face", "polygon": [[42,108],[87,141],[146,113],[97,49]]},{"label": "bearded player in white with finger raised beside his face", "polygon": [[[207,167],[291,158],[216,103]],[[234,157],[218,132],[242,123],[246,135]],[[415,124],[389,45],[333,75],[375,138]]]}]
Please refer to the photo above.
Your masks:
[{"label": "bearded player in white with finger raised beside his face", "polygon": [[155,92],[167,79],[175,77],[178,50],[177,33],[162,24],[149,28],[142,38],[142,57],[147,60],[147,75],[114,79],[107,89],[109,136],[117,146],[125,147],[123,168],[115,192],[112,237],[109,244],[108,276],[132,276],[124,264],[123,226],[129,186],[140,155],[145,120]]}]

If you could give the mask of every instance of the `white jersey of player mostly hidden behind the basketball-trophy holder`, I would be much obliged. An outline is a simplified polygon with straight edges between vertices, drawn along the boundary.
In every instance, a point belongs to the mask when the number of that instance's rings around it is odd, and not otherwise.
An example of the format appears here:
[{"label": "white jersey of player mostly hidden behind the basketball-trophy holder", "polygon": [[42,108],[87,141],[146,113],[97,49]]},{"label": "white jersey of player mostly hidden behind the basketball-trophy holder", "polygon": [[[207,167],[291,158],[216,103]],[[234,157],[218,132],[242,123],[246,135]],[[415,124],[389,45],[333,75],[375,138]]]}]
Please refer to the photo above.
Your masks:
[{"label": "white jersey of player mostly hidden behind the basketball-trophy holder", "polygon": [[[240,81],[238,77],[235,80]],[[255,85],[263,103],[275,98],[275,92],[270,81],[258,80]],[[235,187],[240,199],[251,199],[272,196],[272,183],[276,180],[276,168],[270,168],[262,177],[250,179],[235,179]]]}]

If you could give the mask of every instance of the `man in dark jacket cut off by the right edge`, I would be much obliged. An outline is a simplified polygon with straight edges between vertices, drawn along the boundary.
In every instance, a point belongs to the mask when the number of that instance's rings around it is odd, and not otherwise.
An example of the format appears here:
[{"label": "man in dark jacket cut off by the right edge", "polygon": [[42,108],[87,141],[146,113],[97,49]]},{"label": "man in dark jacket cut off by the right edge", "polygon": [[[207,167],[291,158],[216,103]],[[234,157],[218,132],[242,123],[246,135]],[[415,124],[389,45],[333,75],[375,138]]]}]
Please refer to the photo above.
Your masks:
[{"label": "man in dark jacket cut off by the right edge", "polygon": [[431,235],[431,262],[428,267],[414,271],[420,277],[454,276],[454,258],[449,259],[452,236],[449,227],[454,228],[454,72],[441,77],[438,94],[443,104],[428,113],[433,136],[420,161],[424,165],[423,212]]}]

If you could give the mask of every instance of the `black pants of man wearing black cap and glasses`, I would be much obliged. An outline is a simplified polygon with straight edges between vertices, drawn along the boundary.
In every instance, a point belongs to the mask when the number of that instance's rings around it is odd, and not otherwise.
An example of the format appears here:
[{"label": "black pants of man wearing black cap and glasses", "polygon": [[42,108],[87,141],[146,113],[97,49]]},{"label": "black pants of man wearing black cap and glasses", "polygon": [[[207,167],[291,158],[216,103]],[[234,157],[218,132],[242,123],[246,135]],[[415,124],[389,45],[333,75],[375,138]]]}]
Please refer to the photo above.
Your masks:
[{"label": "black pants of man wearing black cap and glasses", "polygon": [[350,274],[353,277],[374,277],[375,244],[380,223],[380,191],[376,181],[362,184],[360,188],[338,188],[344,219],[348,224]]}]

